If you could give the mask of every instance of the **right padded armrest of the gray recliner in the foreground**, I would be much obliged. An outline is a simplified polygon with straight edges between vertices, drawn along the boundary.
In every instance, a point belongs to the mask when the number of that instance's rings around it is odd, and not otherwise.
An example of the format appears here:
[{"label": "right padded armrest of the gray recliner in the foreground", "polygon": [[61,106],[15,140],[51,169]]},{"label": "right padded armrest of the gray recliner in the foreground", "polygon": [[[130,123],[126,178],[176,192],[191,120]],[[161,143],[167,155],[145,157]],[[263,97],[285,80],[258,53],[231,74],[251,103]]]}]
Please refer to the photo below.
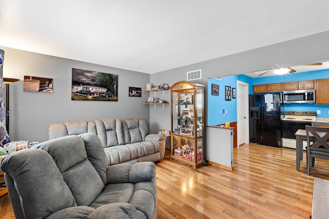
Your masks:
[{"label": "right padded armrest of the gray recliner in the foreground", "polygon": [[140,162],[136,164],[119,164],[107,167],[107,184],[153,182],[155,164]]}]

